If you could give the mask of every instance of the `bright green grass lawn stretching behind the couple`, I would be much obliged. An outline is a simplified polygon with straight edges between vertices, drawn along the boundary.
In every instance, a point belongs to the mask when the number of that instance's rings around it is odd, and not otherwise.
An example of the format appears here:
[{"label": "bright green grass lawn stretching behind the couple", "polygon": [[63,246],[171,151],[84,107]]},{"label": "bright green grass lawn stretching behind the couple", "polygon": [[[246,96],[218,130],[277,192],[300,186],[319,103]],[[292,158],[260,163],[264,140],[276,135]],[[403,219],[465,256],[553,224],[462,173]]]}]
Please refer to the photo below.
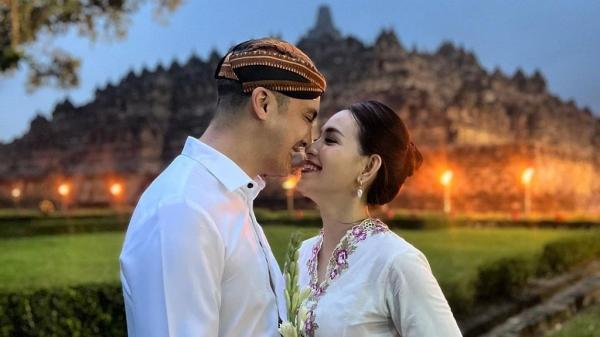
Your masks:
[{"label": "bright green grass lawn stretching behind the couple", "polygon": [[[280,263],[289,235],[296,230],[305,237],[318,232],[316,227],[265,227]],[[503,256],[534,256],[549,241],[589,232],[460,228],[397,233],[425,253],[440,283],[466,284],[481,263]],[[2,239],[0,289],[116,282],[122,241],[118,232]]]}]

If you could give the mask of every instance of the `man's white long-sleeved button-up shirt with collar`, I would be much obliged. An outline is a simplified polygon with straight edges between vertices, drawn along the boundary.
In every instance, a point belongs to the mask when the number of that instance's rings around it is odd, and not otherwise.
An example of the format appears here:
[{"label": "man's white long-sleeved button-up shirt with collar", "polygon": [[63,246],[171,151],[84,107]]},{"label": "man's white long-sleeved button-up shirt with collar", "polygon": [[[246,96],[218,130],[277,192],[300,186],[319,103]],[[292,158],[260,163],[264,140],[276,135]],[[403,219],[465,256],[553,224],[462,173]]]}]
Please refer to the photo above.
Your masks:
[{"label": "man's white long-sleeved button-up shirt with collar", "polygon": [[284,283],[252,210],[263,188],[188,137],[127,229],[120,263],[130,337],[279,336]]}]

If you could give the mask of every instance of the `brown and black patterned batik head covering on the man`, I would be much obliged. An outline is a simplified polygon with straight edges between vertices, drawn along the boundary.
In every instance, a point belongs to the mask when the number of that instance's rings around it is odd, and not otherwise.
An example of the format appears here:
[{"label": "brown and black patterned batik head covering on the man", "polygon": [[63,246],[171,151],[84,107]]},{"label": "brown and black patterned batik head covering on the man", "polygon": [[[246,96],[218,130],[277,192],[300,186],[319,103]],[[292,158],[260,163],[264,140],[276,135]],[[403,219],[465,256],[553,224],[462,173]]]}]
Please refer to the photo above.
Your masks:
[{"label": "brown and black patterned batik head covering on the man", "polygon": [[315,99],[327,86],[306,54],[274,38],[249,40],[233,47],[221,59],[215,78],[239,82],[246,94],[263,87],[299,99]]}]

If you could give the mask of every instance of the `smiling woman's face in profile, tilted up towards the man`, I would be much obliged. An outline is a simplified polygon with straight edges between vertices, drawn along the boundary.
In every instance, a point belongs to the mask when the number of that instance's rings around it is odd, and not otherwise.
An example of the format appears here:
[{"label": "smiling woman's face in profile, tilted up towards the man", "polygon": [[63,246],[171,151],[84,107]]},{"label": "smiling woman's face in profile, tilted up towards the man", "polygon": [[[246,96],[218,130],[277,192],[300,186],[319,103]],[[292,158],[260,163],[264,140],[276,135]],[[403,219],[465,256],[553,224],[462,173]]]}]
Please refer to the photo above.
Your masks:
[{"label": "smiling woman's face in profile, tilted up towards the man", "polygon": [[298,191],[319,203],[331,197],[352,197],[367,156],[361,155],[358,125],[349,110],[333,115],[307,150]]}]

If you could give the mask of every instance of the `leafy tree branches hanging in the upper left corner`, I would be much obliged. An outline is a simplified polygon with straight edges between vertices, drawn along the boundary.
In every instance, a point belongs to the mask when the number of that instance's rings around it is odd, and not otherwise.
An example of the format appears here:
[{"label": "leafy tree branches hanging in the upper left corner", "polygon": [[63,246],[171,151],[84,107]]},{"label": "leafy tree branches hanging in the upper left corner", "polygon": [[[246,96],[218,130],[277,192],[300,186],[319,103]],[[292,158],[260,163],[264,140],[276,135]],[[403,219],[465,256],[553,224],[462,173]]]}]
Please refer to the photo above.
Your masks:
[{"label": "leafy tree branches hanging in the upper left corner", "polygon": [[122,38],[127,19],[148,2],[155,2],[159,18],[181,4],[181,0],[0,0],[0,78],[26,65],[30,90],[43,85],[78,85],[80,61],[76,57],[53,47],[47,55],[34,56],[29,47],[69,29],[77,29],[91,40],[99,34]]}]

